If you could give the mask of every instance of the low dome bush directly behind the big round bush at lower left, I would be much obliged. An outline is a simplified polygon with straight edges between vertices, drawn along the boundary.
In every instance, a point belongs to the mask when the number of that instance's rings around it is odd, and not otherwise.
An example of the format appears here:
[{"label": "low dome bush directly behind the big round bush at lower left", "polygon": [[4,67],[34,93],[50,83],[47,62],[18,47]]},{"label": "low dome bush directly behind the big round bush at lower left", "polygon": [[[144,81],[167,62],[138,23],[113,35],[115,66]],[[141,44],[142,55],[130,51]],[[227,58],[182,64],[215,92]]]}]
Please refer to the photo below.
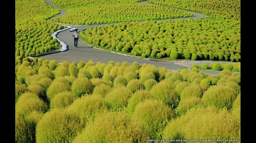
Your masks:
[{"label": "low dome bush directly behind the big round bush at lower left", "polygon": [[51,109],[68,107],[76,98],[70,91],[58,93],[51,100],[50,107]]}]

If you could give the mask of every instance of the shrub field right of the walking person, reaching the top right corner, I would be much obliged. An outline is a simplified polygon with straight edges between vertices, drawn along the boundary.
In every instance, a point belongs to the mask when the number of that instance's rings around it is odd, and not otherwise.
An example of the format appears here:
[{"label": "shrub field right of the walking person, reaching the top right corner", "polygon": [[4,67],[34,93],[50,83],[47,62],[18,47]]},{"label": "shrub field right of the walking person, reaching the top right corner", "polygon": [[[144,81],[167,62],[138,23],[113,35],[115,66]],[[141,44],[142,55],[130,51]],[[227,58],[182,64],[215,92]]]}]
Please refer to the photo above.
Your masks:
[{"label": "shrub field right of the walking person, reaching the top right corner", "polygon": [[144,58],[241,60],[239,1],[150,0],[148,3],[204,13],[209,18],[125,22],[89,28],[81,35],[97,47]]}]

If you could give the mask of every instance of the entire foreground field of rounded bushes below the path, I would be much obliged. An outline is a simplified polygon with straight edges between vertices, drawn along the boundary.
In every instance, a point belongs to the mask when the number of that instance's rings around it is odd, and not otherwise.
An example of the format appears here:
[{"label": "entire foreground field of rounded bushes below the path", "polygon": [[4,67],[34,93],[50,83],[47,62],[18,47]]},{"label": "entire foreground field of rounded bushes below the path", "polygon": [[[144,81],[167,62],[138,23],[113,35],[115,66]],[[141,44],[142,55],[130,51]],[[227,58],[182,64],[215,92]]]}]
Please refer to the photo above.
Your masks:
[{"label": "entire foreground field of rounded bushes below the path", "polygon": [[240,139],[240,75],[230,71],[24,58],[15,73],[16,142]]}]

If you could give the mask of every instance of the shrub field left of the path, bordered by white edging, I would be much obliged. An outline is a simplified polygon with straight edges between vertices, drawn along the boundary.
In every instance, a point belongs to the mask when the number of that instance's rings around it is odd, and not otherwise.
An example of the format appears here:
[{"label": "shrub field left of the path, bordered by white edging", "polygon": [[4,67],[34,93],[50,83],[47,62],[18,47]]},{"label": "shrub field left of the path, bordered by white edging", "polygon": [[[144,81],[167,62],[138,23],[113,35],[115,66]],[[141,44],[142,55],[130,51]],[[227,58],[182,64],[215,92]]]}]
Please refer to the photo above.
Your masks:
[{"label": "shrub field left of the path, bordered by white edging", "polygon": [[66,27],[46,21],[60,13],[44,0],[15,1],[15,58],[34,56],[59,49],[51,34]]}]

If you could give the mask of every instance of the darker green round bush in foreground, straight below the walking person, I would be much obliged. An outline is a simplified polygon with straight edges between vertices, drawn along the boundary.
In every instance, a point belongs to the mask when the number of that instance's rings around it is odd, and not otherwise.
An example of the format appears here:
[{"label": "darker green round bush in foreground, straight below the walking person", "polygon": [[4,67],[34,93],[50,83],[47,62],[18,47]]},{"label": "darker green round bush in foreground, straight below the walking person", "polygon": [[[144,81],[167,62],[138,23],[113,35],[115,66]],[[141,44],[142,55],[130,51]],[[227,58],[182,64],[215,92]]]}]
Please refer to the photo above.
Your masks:
[{"label": "darker green round bush in foreground, straight below the walking person", "polygon": [[71,85],[71,91],[77,97],[81,97],[83,94],[91,94],[93,88],[94,85],[87,78],[76,79]]}]

